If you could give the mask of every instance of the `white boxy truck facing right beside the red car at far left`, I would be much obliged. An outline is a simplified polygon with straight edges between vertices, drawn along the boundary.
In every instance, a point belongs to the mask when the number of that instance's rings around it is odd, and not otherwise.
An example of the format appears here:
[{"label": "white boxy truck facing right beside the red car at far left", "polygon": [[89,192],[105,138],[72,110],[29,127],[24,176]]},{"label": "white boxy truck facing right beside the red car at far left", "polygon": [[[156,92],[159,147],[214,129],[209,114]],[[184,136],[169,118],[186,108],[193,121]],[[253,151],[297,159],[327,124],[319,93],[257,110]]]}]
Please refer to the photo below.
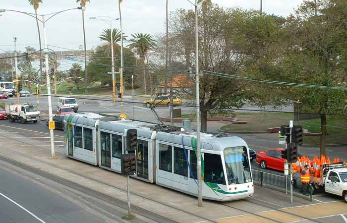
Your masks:
[{"label": "white boxy truck facing right beside the red car at far left", "polygon": [[22,124],[25,124],[27,121],[36,123],[40,119],[40,111],[35,105],[31,104],[7,104],[5,113],[8,114],[9,122],[19,120]]}]

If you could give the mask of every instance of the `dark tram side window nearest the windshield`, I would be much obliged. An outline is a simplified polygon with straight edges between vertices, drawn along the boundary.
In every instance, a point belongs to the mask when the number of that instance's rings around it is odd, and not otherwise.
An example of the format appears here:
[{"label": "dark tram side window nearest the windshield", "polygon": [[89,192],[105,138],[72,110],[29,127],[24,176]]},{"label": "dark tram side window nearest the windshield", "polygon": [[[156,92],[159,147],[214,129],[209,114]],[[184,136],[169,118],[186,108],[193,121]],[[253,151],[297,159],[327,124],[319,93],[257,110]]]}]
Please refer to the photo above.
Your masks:
[{"label": "dark tram side window nearest the windshield", "polygon": [[221,155],[205,153],[205,179],[210,183],[226,184]]}]

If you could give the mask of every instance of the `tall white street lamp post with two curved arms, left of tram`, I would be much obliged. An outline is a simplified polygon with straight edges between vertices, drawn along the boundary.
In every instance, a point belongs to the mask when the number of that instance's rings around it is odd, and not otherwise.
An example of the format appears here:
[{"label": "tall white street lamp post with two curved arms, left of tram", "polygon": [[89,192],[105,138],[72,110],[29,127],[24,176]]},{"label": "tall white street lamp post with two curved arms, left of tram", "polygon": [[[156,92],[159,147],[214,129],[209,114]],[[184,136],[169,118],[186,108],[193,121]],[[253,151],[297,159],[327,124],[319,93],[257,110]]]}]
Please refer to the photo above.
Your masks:
[{"label": "tall white street lamp post with two curved arms, left of tram", "polygon": [[[49,19],[51,19],[53,16],[56,16],[56,15],[58,15],[61,12],[74,10],[74,9],[83,9],[83,7],[70,8],[70,9],[66,9],[66,10],[50,13],[50,14],[47,14],[47,15],[41,15],[42,16],[42,20],[36,18],[34,16],[35,14],[33,14],[33,13],[22,12],[22,11],[17,11],[17,10],[0,9],[1,12],[4,12],[4,11],[14,11],[14,12],[19,12],[19,13],[22,13],[22,14],[29,15],[29,16],[37,19],[38,21],[42,22],[42,24],[43,24],[43,33],[44,33],[44,41],[45,41],[45,62],[46,62],[46,79],[47,79],[47,95],[48,95],[48,113],[49,113],[49,120],[50,121],[53,120],[53,115],[52,115],[52,99],[51,99],[51,82],[50,82],[49,63],[48,63],[48,44],[47,44],[47,36],[46,36],[46,22]],[[46,20],[45,16],[50,16],[50,17]],[[51,138],[51,157],[52,158],[56,158],[55,147],[54,147],[54,132],[53,132],[53,129],[50,129],[50,136],[51,136],[50,137]]]}]

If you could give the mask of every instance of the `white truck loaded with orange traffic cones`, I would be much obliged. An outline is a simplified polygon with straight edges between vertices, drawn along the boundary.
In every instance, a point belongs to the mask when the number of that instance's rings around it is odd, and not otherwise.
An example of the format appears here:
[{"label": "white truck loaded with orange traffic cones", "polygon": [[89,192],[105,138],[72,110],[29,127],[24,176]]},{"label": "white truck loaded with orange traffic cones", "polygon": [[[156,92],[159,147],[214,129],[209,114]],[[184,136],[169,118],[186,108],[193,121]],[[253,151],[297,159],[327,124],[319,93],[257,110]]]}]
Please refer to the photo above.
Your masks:
[{"label": "white truck loaded with orange traffic cones", "polygon": [[309,167],[310,184],[313,194],[317,190],[342,196],[347,202],[347,163],[340,162],[339,158],[334,159],[316,156],[311,161],[308,157],[302,156],[293,163],[293,178],[301,179],[301,171],[305,165]]}]

